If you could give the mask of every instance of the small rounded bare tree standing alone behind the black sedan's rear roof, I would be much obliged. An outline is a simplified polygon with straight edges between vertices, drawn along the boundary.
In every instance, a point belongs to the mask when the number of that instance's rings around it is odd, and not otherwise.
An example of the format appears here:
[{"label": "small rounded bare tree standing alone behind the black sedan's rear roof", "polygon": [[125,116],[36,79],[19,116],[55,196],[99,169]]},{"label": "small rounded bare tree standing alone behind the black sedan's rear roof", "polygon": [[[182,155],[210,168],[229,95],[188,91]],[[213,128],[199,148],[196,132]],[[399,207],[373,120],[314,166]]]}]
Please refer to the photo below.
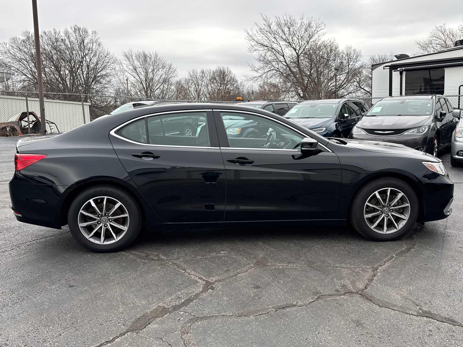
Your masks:
[{"label": "small rounded bare tree standing alone behind the black sedan's rear roof", "polygon": [[120,64],[136,95],[153,99],[174,96],[177,69],[157,52],[124,51]]}]

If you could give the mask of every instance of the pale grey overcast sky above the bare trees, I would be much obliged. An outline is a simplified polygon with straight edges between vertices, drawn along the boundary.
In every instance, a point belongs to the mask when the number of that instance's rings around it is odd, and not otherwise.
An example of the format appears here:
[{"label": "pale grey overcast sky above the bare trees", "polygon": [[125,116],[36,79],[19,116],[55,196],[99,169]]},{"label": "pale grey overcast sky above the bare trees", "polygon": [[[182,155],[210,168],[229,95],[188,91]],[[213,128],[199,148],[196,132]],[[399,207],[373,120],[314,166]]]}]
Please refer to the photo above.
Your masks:
[{"label": "pale grey overcast sky above the bare trees", "polygon": [[[33,30],[31,0],[0,0],[0,41]],[[38,0],[40,30],[83,25],[100,34],[120,56],[123,50],[156,50],[184,76],[192,68],[228,65],[249,71],[244,28],[261,15],[313,16],[326,23],[326,38],[371,54],[415,52],[434,25],[463,24],[463,1],[292,0],[148,1]]]}]

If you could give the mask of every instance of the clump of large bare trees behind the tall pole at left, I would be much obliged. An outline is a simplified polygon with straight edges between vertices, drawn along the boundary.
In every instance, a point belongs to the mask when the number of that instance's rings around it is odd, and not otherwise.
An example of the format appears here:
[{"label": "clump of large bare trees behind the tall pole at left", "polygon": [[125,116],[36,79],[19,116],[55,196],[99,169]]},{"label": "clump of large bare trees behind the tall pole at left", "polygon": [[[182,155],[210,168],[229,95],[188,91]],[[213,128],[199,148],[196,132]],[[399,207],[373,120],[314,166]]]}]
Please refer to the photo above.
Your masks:
[{"label": "clump of large bare trees behind the tall pole at left", "polygon": [[[116,58],[96,31],[78,25],[40,35],[45,92],[102,93],[113,77]],[[37,88],[37,67],[33,34],[12,37],[0,43],[0,56],[15,74],[19,87]],[[87,99],[86,99],[87,101]]]}]

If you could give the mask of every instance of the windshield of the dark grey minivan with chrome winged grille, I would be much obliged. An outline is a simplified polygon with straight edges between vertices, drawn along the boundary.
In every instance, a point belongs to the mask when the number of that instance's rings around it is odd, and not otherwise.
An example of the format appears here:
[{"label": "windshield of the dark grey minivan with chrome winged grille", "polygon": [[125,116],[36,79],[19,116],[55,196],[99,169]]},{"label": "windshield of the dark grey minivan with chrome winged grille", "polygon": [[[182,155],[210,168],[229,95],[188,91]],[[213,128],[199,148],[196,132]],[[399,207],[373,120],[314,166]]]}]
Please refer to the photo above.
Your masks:
[{"label": "windshield of the dark grey minivan with chrome winged grille", "polygon": [[432,99],[392,99],[378,101],[366,116],[422,116],[432,114]]}]

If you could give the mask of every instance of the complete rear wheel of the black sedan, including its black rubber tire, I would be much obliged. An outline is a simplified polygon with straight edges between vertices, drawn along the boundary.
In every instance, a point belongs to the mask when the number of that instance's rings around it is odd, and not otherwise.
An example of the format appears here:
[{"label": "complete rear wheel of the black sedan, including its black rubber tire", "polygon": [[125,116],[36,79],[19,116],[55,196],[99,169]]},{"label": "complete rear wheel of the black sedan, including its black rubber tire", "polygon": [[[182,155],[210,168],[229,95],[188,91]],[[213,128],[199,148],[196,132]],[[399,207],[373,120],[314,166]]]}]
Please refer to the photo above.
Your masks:
[{"label": "complete rear wheel of the black sedan, including its black rubber tire", "polygon": [[[105,214],[108,216],[101,214],[105,199]],[[92,202],[100,214],[97,214]],[[117,208],[114,210],[114,207]],[[121,217],[114,219],[111,216]],[[82,225],[84,223],[87,225]],[[100,185],[90,187],[75,197],[69,207],[68,224],[71,234],[83,247],[100,253],[115,252],[135,240],[142,224],[142,214],[135,198],[125,190]],[[105,233],[101,238],[103,229]]]}]

